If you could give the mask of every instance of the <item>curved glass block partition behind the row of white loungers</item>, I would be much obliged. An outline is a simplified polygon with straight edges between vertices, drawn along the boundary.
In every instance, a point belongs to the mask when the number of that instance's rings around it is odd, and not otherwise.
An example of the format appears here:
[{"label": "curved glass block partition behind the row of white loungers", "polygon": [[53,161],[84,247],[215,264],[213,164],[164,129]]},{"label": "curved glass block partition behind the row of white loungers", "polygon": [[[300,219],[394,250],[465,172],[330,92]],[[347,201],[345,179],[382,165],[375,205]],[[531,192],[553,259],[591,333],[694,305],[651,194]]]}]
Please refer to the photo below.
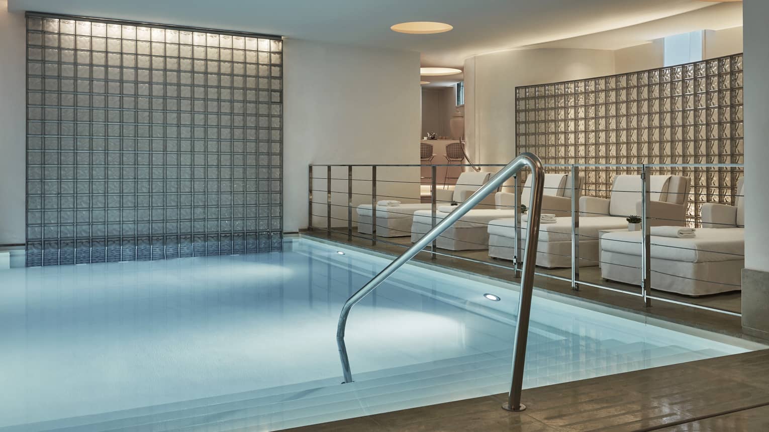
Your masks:
[{"label": "curved glass block partition behind the row of white loungers", "polygon": [[[544,163],[743,163],[742,101],[742,54],[517,87],[517,149]],[[687,217],[695,224],[703,203],[733,202],[742,175],[714,167],[653,172],[692,179]],[[638,170],[582,173],[586,194],[608,197],[615,174]]]}]

